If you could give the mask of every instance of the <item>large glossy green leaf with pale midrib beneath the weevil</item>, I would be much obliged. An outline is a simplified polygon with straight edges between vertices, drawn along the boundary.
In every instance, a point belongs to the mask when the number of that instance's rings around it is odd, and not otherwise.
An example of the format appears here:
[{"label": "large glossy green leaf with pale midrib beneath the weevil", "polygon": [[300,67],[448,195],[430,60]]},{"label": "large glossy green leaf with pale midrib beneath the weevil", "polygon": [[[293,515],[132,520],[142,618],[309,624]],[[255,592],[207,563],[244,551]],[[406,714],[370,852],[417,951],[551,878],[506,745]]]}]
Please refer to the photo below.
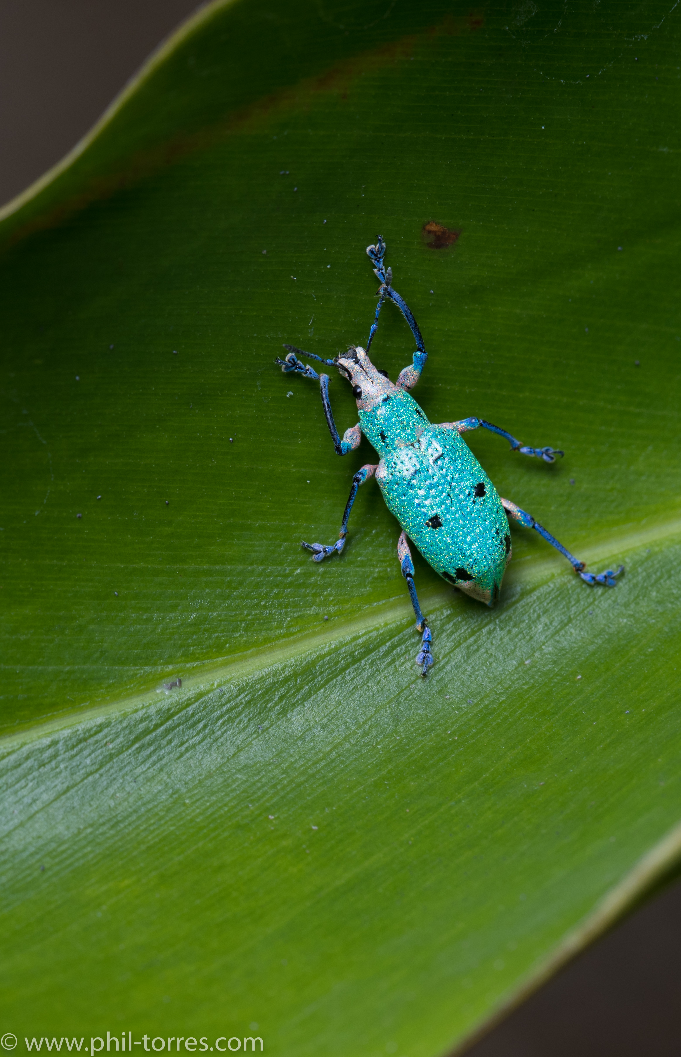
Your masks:
[{"label": "large glossy green leaf with pale midrib beneath the weevil", "polygon": [[[678,36],[655,2],[217,4],[5,209],[8,1030],[434,1055],[675,860]],[[565,449],[470,439],[626,564],[590,590],[512,530],[488,610],[415,556],[425,682],[374,484],[340,558],[299,548],[372,453],[273,365],[365,340],[379,233],[429,418]]]}]

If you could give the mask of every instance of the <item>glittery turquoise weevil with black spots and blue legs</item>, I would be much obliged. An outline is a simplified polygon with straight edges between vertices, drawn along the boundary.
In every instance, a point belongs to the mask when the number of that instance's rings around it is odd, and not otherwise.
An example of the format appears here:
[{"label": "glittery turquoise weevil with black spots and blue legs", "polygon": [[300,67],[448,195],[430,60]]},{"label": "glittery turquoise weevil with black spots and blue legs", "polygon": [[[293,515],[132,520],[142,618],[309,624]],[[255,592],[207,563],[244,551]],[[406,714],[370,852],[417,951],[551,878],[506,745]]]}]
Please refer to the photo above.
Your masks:
[{"label": "glittery turquoise weevil with black spots and blue legs", "polygon": [[[425,676],[433,664],[432,635],[418,602],[408,538],[440,576],[459,591],[488,606],[492,606],[498,598],[504,573],[511,560],[507,515],[527,528],[534,528],[551,546],[564,554],[574,572],[586,583],[602,583],[612,588],[616,586],[616,577],[624,572],[624,565],[617,570],[608,569],[599,575],[587,573],[585,563],[570,554],[530,514],[497,495],[461,433],[481,426],[505,437],[512,451],[534,456],[547,463],[554,462],[556,456],[563,456],[562,451],[549,447],[526,447],[505,429],[493,426],[484,419],[462,419],[460,422],[443,422],[439,426],[433,426],[428,421],[414,397],[409,394],[409,390],[418,382],[428,358],[421,332],[409,305],[393,289],[393,273],[383,264],[385,243],[380,236],[375,246],[366,247],[366,253],[381,283],[366,349],[351,346],[347,352],[340,353],[333,359],[323,359],[315,353],[286,345],[286,358],[278,357],[276,361],[284,372],[295,371],[305,378],[319,382],[324,414],[339,456],[358,448],[364,433],[380,457],[380,462],[362,466],[353,478],[338,542],[330,546],[323,543],[302,545],[313,552],[315,561],[323,561],[334,552],[340,554],[345,545],[347,521],[357,490],[360,484],[364,484],[376,474],[387,508],[402,526],[397,555],[416,614],[416,628],[422,635],[416,663]],[[379,371],[368,358],[384,301],[393,301],[397,305],[416,340],[413,366],[401,371],[395,385],[387,373]],[[340,374],[351,383],[353,395],[357,400],[359,422],[345,431],[342,440],[336,429],[328,401],[328,375],[317,374],[311,367],[298,359],[297,353],[329,367],[337,367]]]}]

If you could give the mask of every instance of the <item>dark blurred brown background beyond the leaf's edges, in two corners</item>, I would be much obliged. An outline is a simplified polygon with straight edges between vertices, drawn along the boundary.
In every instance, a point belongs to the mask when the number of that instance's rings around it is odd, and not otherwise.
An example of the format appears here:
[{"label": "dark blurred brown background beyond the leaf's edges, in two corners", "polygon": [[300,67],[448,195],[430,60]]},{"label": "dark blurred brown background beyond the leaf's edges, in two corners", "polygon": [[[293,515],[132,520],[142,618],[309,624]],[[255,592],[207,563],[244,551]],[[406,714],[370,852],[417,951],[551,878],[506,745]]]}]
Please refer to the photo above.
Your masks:
[{"label": "dark blurred brown background beyond the leaf's edges, in two corners", "polygon": [[[0,0],[0,203],[89,130],[192,0]],[[474,1057],[681,1052],[681,884],[582,954]],[[348,1055],[349,1057],[349,1055]]]}]

